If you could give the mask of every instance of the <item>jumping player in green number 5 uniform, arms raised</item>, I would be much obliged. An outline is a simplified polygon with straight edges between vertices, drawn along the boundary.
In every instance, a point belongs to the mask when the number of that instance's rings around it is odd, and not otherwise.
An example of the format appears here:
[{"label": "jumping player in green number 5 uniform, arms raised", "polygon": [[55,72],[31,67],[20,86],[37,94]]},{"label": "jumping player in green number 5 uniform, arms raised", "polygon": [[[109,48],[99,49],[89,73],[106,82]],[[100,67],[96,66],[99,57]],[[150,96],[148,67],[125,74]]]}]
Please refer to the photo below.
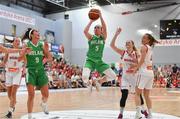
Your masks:
[{"label": "jumping player in green number 5 uniform, arms raised", "polygon": [[116,74],[109,67],[109,65],[104,63],[102,60],[104,45],[107,38],[107,29],[100,11],[99,16],[102,26],[96,25],[94,27],[94,35],[89,33],[89,29],[95,20],[90,20],[88,25],[84,29],[84,34],[88,39],[89,45],[89,49],[86,56],[86,62],[82,74],[82,78],[85,81],[85,83],[89,83],[90,72],[94,70],[97,70],[101,74],[105,74],[110,80],[116,79]]}]

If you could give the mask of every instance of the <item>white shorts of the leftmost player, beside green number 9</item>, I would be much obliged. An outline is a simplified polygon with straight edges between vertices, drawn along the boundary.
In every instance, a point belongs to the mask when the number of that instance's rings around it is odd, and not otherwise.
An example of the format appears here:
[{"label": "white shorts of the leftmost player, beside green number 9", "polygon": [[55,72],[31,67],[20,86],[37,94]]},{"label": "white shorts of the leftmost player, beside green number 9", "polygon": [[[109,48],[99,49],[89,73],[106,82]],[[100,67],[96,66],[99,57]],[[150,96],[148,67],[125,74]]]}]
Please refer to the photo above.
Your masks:
[{"label": "white shorts of the leftmost player, beside green number 9", "polygon": [[21,76],[22,76],[22,71],[19,72],[6,71],[6,86],[20,85]]}]

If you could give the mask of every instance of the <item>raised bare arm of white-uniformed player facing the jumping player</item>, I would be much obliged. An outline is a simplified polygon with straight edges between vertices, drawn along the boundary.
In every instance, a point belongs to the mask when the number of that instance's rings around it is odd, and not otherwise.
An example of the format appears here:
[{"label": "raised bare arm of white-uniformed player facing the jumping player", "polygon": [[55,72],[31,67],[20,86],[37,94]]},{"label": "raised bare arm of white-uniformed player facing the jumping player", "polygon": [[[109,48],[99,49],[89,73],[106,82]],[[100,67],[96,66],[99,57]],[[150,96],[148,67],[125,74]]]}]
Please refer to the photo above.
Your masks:
[{"label": "raised bare arm of white-uniformed player facing the jumping player", "polygon": [[116,33],[115,33],[115,35],[114,35],[114,37],[113,37],[113,39],[112,39],[112,41],[111,41],[110,46],[111,46],[111,48],[112,48],[115,52],[117,52],[117,53],[120,54],[120,55],[123,55],[123,54],[124,54],[124,50],[116,47],[116,45],[115,45],[115,42],[116,42],[117,37],[118,37],[118,35],[120,34],[120,32],[121,32],[121,28],[117,28]]}]

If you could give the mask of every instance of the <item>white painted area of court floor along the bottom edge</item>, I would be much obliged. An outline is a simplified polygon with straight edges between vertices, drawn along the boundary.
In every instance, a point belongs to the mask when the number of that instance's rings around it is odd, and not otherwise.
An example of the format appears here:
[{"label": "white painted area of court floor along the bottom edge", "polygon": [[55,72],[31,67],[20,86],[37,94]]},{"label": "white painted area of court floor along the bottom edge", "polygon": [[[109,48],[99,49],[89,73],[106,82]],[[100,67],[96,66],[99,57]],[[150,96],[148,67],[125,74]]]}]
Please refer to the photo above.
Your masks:
[{"label": "white painted area of court floor along the bottom edge", "polygon": [[[53,111],[49,115],[43,112],[34,113],[32,116],[35,119],[117,119],[119,111],[113,110],[70,110],[70,111]],[[134,111],[125,111],[125,119],[134,119]],[[21,117],[27,119],[27,115]],[[144,117],[142,119],[145,119]],[[153,119],[180,119],[179,117],[153,113]]]}]

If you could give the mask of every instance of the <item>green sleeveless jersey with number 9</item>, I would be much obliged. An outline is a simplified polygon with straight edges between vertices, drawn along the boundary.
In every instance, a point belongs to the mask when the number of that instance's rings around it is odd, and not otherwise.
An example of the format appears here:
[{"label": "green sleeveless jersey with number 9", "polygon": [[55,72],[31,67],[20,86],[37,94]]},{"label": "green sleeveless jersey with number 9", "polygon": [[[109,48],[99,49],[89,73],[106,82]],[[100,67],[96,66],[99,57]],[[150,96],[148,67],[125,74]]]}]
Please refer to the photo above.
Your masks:
[{"label": "green sleeveless jersey with number 9", "polygon": [[29,41],[27,47],[32,50],[31,53],[26,55],[27,68],[43,68],[43,44],[38,42],[37,45],[34,45]]}]

